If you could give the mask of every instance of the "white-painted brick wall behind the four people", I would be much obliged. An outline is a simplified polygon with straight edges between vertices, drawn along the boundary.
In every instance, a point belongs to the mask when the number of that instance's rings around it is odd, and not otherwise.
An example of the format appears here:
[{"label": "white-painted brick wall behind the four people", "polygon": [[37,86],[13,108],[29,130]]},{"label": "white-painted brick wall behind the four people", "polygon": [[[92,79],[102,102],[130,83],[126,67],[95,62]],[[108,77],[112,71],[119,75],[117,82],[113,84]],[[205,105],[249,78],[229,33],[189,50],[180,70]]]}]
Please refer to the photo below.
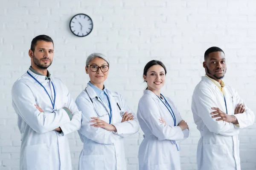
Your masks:
[{"label": "white-painted brick wall behind the four people", "polygon": [[[111,61],[106,84],[121,93],[135,112],[146,86],[143,67],[151,59],[161,59],[168,71],[163,94],[173,99],[191,130],[181,144],[182,167],[195,170],[199,133],[190,104],[193,89],[204,75],[207,48],[216,45],[225,51],[225,81],[256,111],[255,6],[255,0],[1,0],[0,169],[19,169],[20,133],[11,87],[29,68],[32,38],[47,34],[55,41],[55,59],[49,70],[66,83],[73,98],[89,80],[84,72],[86,57],[102,52]],[[70,19],[78,13],[93,20],[93,31],[87,37],[70,32]],[[138,170],[142,135],[140,131],[125,141],[128,170]],[[75,170],[82,143],[78,133],[69,137]],[[255,125],[241,130],[243,170],[256,169],[255,139]]]}]

